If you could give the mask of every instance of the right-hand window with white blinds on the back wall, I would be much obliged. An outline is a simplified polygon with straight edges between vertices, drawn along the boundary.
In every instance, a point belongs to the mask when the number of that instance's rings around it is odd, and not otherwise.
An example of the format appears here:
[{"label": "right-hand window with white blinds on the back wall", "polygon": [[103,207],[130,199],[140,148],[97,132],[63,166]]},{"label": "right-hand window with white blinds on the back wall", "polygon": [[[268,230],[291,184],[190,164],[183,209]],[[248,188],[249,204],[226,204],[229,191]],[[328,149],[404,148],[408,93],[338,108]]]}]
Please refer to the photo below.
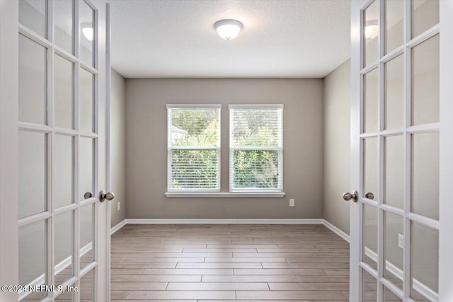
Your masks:
[{"label": "right-hand window with white blinds on the back wall", "polygon": [[229,105],[230,191],[282,191],[283,105]]}]

